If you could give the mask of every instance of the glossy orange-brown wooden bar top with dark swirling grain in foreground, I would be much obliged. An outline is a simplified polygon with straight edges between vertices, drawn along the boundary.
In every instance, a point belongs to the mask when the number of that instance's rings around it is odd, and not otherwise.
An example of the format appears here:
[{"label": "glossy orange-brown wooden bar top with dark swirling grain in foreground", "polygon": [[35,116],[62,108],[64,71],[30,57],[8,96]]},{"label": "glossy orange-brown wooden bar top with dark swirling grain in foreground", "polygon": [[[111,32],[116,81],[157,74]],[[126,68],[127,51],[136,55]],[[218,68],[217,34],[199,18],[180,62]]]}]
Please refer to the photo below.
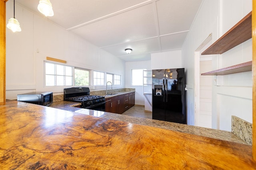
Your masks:
[{"label": "glossy orange-brown wooden bar top with dark swirling grain in foreground", "polygon": [[7,101],[0,169],[255,169],[252,146]]}]

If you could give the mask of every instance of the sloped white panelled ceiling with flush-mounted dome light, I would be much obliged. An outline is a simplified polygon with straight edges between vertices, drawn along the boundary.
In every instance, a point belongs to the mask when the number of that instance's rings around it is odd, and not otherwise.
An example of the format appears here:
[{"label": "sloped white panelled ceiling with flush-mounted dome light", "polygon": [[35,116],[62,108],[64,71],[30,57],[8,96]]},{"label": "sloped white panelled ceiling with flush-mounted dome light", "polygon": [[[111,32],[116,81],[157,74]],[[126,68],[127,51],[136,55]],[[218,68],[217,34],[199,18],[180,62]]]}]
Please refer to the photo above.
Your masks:
[{"label": "sloped white panelled ceiling with flush-mounted dome light", "polygon": [[[124,61],[181,49],[202,0],[50,0],[47,17]],[[43,16],[39,0],[16,0]],[[124,51],[131,48],[129,55]]]}]

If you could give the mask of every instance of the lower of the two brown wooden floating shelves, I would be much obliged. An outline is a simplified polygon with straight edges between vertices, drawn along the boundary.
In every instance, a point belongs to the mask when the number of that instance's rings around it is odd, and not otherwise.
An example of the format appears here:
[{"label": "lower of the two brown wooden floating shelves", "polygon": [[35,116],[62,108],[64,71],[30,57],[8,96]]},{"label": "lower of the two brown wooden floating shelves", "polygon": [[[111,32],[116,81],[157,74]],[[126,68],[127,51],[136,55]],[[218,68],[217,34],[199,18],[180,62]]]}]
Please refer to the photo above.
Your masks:
[{"label": "lower of the two brown wooden floating shelves", "polygon": [[247,72],[247,71],[252,71],[252,61],[248,61],[246,63],[241,63],[241,64],[237,64],[237,65],[229,66],[225,68],[220,68],[218,70],[213,70],[210,72],[205,72],[205,73],[202,73],[201,75],[202,76],[208,76],[208,75],[219,76],[219,75],[234,74],[238,72]]}]

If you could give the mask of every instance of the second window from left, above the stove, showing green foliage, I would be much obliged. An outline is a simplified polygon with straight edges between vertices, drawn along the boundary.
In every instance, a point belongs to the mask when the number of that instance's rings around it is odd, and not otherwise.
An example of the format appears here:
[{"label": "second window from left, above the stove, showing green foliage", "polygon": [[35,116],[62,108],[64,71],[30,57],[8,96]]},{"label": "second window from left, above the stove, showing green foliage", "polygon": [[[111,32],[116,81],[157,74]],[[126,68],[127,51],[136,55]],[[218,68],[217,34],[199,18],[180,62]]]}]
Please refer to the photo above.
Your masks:
[{"label": "second window from left, above the stove, showing green foliage", "polygon": [[90,71],[80,69],[80,68],[75,68],[75,86],[89,86],[89,75]]}]

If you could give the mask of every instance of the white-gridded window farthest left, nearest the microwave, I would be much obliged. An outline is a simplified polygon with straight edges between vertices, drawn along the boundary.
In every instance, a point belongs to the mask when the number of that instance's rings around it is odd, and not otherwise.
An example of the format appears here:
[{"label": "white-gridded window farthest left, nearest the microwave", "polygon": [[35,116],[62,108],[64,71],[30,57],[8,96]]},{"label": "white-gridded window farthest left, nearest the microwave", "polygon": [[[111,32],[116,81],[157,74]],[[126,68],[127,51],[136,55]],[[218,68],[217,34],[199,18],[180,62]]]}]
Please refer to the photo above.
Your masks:
[{"label": "white-gridded window farthest left, nearest the microwave", "polygon": [[72,86],[72,67],[54,63],[45,63],[46,86]]}]

